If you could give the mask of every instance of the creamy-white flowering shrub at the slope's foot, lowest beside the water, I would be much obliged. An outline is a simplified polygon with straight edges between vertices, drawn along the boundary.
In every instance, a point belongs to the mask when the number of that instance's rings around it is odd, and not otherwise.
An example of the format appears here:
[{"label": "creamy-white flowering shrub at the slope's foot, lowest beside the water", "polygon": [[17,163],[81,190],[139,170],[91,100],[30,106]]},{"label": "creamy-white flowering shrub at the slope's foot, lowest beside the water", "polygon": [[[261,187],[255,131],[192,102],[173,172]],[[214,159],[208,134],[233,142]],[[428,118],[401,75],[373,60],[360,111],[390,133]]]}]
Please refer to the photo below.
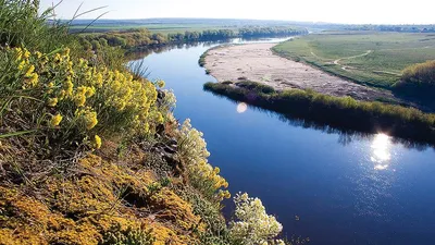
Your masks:
[{"label": "creamy-white flowering shrub at the slope's foot, lowest beside the water", "polygon": [[274,216],[269,216],[259,198],[248,194],[237,194],[235,220],[229,223],[229,234],[234,244],[243,245],[284,245],[274,238],[283,230],[283,225]]}]

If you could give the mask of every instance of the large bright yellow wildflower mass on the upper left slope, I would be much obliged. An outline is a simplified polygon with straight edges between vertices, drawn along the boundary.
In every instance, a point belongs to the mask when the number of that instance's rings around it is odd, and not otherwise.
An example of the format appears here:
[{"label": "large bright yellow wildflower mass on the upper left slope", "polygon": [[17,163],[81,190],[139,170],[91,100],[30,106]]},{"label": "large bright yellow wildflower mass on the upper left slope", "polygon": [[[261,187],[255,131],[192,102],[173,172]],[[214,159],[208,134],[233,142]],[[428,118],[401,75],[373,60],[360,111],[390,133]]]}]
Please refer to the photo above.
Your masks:
[{"label": "large bright yellow wildflower mass on the upper left slope", "polygon": [[65,144],[92,138],[89,146],[99,148],[97,133],[146,135],[164,121],[156,85],[145,78],[73,61],[67,48],[49,54],[22,48],[5,52],[12,65],[3,72],[14,75],[0,89],[9,98],[27,98],[13,103],[33,109],[27,128],[54,133]]}]

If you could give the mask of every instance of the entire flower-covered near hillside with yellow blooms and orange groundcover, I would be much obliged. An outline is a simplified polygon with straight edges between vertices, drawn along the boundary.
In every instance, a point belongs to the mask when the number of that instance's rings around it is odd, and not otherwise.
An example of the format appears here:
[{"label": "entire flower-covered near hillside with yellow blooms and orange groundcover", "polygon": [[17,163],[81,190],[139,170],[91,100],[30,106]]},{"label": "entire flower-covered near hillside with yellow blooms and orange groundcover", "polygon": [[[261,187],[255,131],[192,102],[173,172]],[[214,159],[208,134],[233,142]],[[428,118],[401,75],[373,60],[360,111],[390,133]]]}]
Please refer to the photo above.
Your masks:
[{"label": "entire flower-covered near hillside with yellow blooms and orange groundcover", "polygon": [[258,198],[222,217],[228,183],[162,81],[38,2],[0,1],[0,244],[284,244]]}]

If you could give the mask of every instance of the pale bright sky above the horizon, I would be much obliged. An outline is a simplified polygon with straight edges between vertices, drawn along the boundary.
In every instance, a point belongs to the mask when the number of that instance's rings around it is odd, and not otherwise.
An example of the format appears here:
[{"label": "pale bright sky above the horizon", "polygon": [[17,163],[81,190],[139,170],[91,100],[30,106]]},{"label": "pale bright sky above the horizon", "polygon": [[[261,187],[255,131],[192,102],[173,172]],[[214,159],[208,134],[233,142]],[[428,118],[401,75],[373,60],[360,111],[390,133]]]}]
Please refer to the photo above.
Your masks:
[{"label": "pale bright sky above the horizon", "polygon": [[[41,9],[59,0],[41,0]],[[253,19],[348,24],[435,24],[435,0],[63,0],[58,19],[208,17]]]}]

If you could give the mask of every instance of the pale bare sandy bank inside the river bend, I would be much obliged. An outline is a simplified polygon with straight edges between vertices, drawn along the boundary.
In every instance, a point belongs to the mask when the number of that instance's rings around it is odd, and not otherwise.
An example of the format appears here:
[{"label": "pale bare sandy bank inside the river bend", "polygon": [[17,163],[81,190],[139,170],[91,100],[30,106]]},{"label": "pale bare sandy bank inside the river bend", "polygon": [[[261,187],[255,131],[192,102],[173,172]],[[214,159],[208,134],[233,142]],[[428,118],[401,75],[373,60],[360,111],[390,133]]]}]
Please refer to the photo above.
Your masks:
[{"label": "pale bare sandy bank inside the river bend", "polygon": [[378,90],[332,76],[310,65],[275,56],[275,44],[227,46],[210,50],[206,69],[219,82],[244,77],[276,89],[312,88],[332,96],[351,96],[359,100],[390,98],[390,91]]}]

